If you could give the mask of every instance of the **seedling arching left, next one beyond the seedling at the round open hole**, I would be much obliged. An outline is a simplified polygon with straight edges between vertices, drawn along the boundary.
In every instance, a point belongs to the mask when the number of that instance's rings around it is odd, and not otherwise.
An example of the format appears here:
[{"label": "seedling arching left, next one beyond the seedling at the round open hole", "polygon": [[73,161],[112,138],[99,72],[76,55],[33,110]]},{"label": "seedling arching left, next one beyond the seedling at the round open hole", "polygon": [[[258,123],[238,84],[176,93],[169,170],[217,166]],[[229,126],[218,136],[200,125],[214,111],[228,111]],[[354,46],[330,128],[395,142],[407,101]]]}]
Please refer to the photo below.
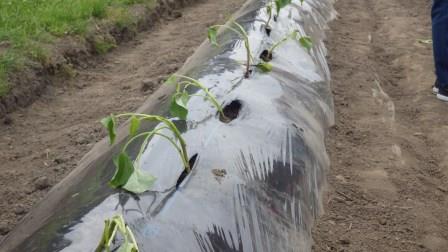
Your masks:
[{"label": "seedling arching left, next one beyond the seedling at the round open hole", "polygon": [[231,25],[213,25],[213,26],[209,27],[208,28],[208,39],[209,39],[210,43],[214,46],[219,46],[218,40],[217,40],[218,29],[221,27],[229,29],[230,31],[238,34],[240,36],[240,38],[244,41],[244,47],[246,48],[246,56],[247,56],[246,57],[247,58],[246,59],[246,72],[244,73],[245,78],[250,77],[250,73],[252,72],[251,66],[255,66],[256,68],[260,69],[262,72],[272,71],[272,66],[269,63],[260,62],[256,65],[253,64],[254,57],[252,56],[252,52],[250,50],[249,37],[248,37],[246,31],[240,24],[238,24],[235,21],[232,21],[232,25],[235,27],[233,27]]}]

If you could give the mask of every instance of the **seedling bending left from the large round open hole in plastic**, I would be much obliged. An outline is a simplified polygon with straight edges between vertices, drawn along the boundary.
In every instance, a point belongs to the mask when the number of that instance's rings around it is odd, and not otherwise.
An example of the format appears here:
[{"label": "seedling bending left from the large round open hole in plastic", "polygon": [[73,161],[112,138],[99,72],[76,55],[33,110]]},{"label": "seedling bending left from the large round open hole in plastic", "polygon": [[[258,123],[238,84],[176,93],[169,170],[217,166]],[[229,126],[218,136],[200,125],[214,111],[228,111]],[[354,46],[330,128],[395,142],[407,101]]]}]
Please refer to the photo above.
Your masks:
[{"label": "seedling bending left from the large round open hole in plastic", "polygon": [[[168,78],[166,83],[176,85],[176,93],[174,93],[171,97],[170,113],[172,116],[178,117],[181,120],[186,120],[188,115],[188,101],[192,96],[199,96],[212,103],[212,105],[218,110],[222,120],[229,121],[229,119],[224,115],[222,106],[216,100],[216,97],[210,93],[208,88],[198,80],[185,75],[173,74]],[[201,89],[204,91],[205,95],[189,94],[187,89],[191,86]]]}]

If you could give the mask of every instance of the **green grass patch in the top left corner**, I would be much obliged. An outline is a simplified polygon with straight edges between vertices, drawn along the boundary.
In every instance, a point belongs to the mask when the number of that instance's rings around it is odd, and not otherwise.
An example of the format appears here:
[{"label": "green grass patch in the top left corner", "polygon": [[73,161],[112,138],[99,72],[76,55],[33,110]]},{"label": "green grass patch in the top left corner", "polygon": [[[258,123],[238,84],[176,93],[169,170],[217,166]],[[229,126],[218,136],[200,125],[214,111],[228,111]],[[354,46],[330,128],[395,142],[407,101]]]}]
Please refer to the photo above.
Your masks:
[{"label": "green grass patch in the top left corner", "polygon": [[[156,0],[0,0],[0,96],[9,89],[7,76],[27,60],[44,61],[45,44],[56,38],[85,35],[95,20],[108,19],[118,27],[134,22],[133,4]],[[101,53],[115,45],[100,43]]]}]

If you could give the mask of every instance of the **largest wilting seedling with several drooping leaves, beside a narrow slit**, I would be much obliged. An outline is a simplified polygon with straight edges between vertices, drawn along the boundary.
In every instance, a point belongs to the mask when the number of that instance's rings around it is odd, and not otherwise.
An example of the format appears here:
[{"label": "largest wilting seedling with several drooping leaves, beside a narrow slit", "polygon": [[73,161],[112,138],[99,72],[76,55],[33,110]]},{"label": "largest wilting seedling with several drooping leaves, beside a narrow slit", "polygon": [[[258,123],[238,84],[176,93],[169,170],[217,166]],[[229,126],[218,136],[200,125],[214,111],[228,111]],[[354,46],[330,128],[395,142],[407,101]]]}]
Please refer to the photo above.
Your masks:
[{"label": "largest wilting seedling with several drooping leaves, beside a narrow slit", "polygon": [[[170,120],[168,120],[163,116],[156,116],[156,115],[146,115],[138,113],[110,115],[101,120],[101,123],[108,130],[109,140],[111,144],[115,142],[116,138],[115,127],[117,118],[130,118],[129,133],[131,138],[124,145],[120,154],[114,159],[114,164],[117,169],[115,171],[115,175],[109,181],[109,185],[112,188],[122,188],[128,192],[132,192],[135,194],[143,193],[151,189],[156,178],[151,174],[147,174],[141,171],[138,165],[140,165],[140,158],[149,140],[151,140],[152,137],[154,136],[160,136],[171,143],[171,145],[176,149],[176,151],[179,153],[179,156],[182,159],[182,163],[185,169],[184,172],[186,174],[190,173],[191,168],[187,154],[187,145],[179,129],[176,127],[176,125],[174,125],[173,122],[171,122]],[[142,121],[159,122],[162,124],[162,126],[159,126],[151,131],[138,133]],[[173,137],[162,133],[164,130],[170,131]],[[138,152],[137,157],[135,158],[134,161],[132,161],[126,151],[132,142],[140,138],[144,139],[143,143],[140,146],[140,150]]]}]

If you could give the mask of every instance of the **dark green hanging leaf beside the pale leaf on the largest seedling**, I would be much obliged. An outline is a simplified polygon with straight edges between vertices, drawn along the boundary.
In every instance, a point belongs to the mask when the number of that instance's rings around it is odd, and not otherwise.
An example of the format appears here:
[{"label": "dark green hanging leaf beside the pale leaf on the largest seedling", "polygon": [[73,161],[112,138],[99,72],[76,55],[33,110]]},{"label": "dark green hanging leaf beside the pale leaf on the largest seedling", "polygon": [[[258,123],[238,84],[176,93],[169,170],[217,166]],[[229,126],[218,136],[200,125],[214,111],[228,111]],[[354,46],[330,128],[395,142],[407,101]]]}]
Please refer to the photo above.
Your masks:
[{"label": "dark green hanging leaf beside the pale leaf on the largest seedling", "polygon": [[113,188],[120,188],[126,185],[135,172],[134,164],[125,152],[121,152],[114,160],[114,163],[116,166],[115,175],[109,181],[109,185]]}]

